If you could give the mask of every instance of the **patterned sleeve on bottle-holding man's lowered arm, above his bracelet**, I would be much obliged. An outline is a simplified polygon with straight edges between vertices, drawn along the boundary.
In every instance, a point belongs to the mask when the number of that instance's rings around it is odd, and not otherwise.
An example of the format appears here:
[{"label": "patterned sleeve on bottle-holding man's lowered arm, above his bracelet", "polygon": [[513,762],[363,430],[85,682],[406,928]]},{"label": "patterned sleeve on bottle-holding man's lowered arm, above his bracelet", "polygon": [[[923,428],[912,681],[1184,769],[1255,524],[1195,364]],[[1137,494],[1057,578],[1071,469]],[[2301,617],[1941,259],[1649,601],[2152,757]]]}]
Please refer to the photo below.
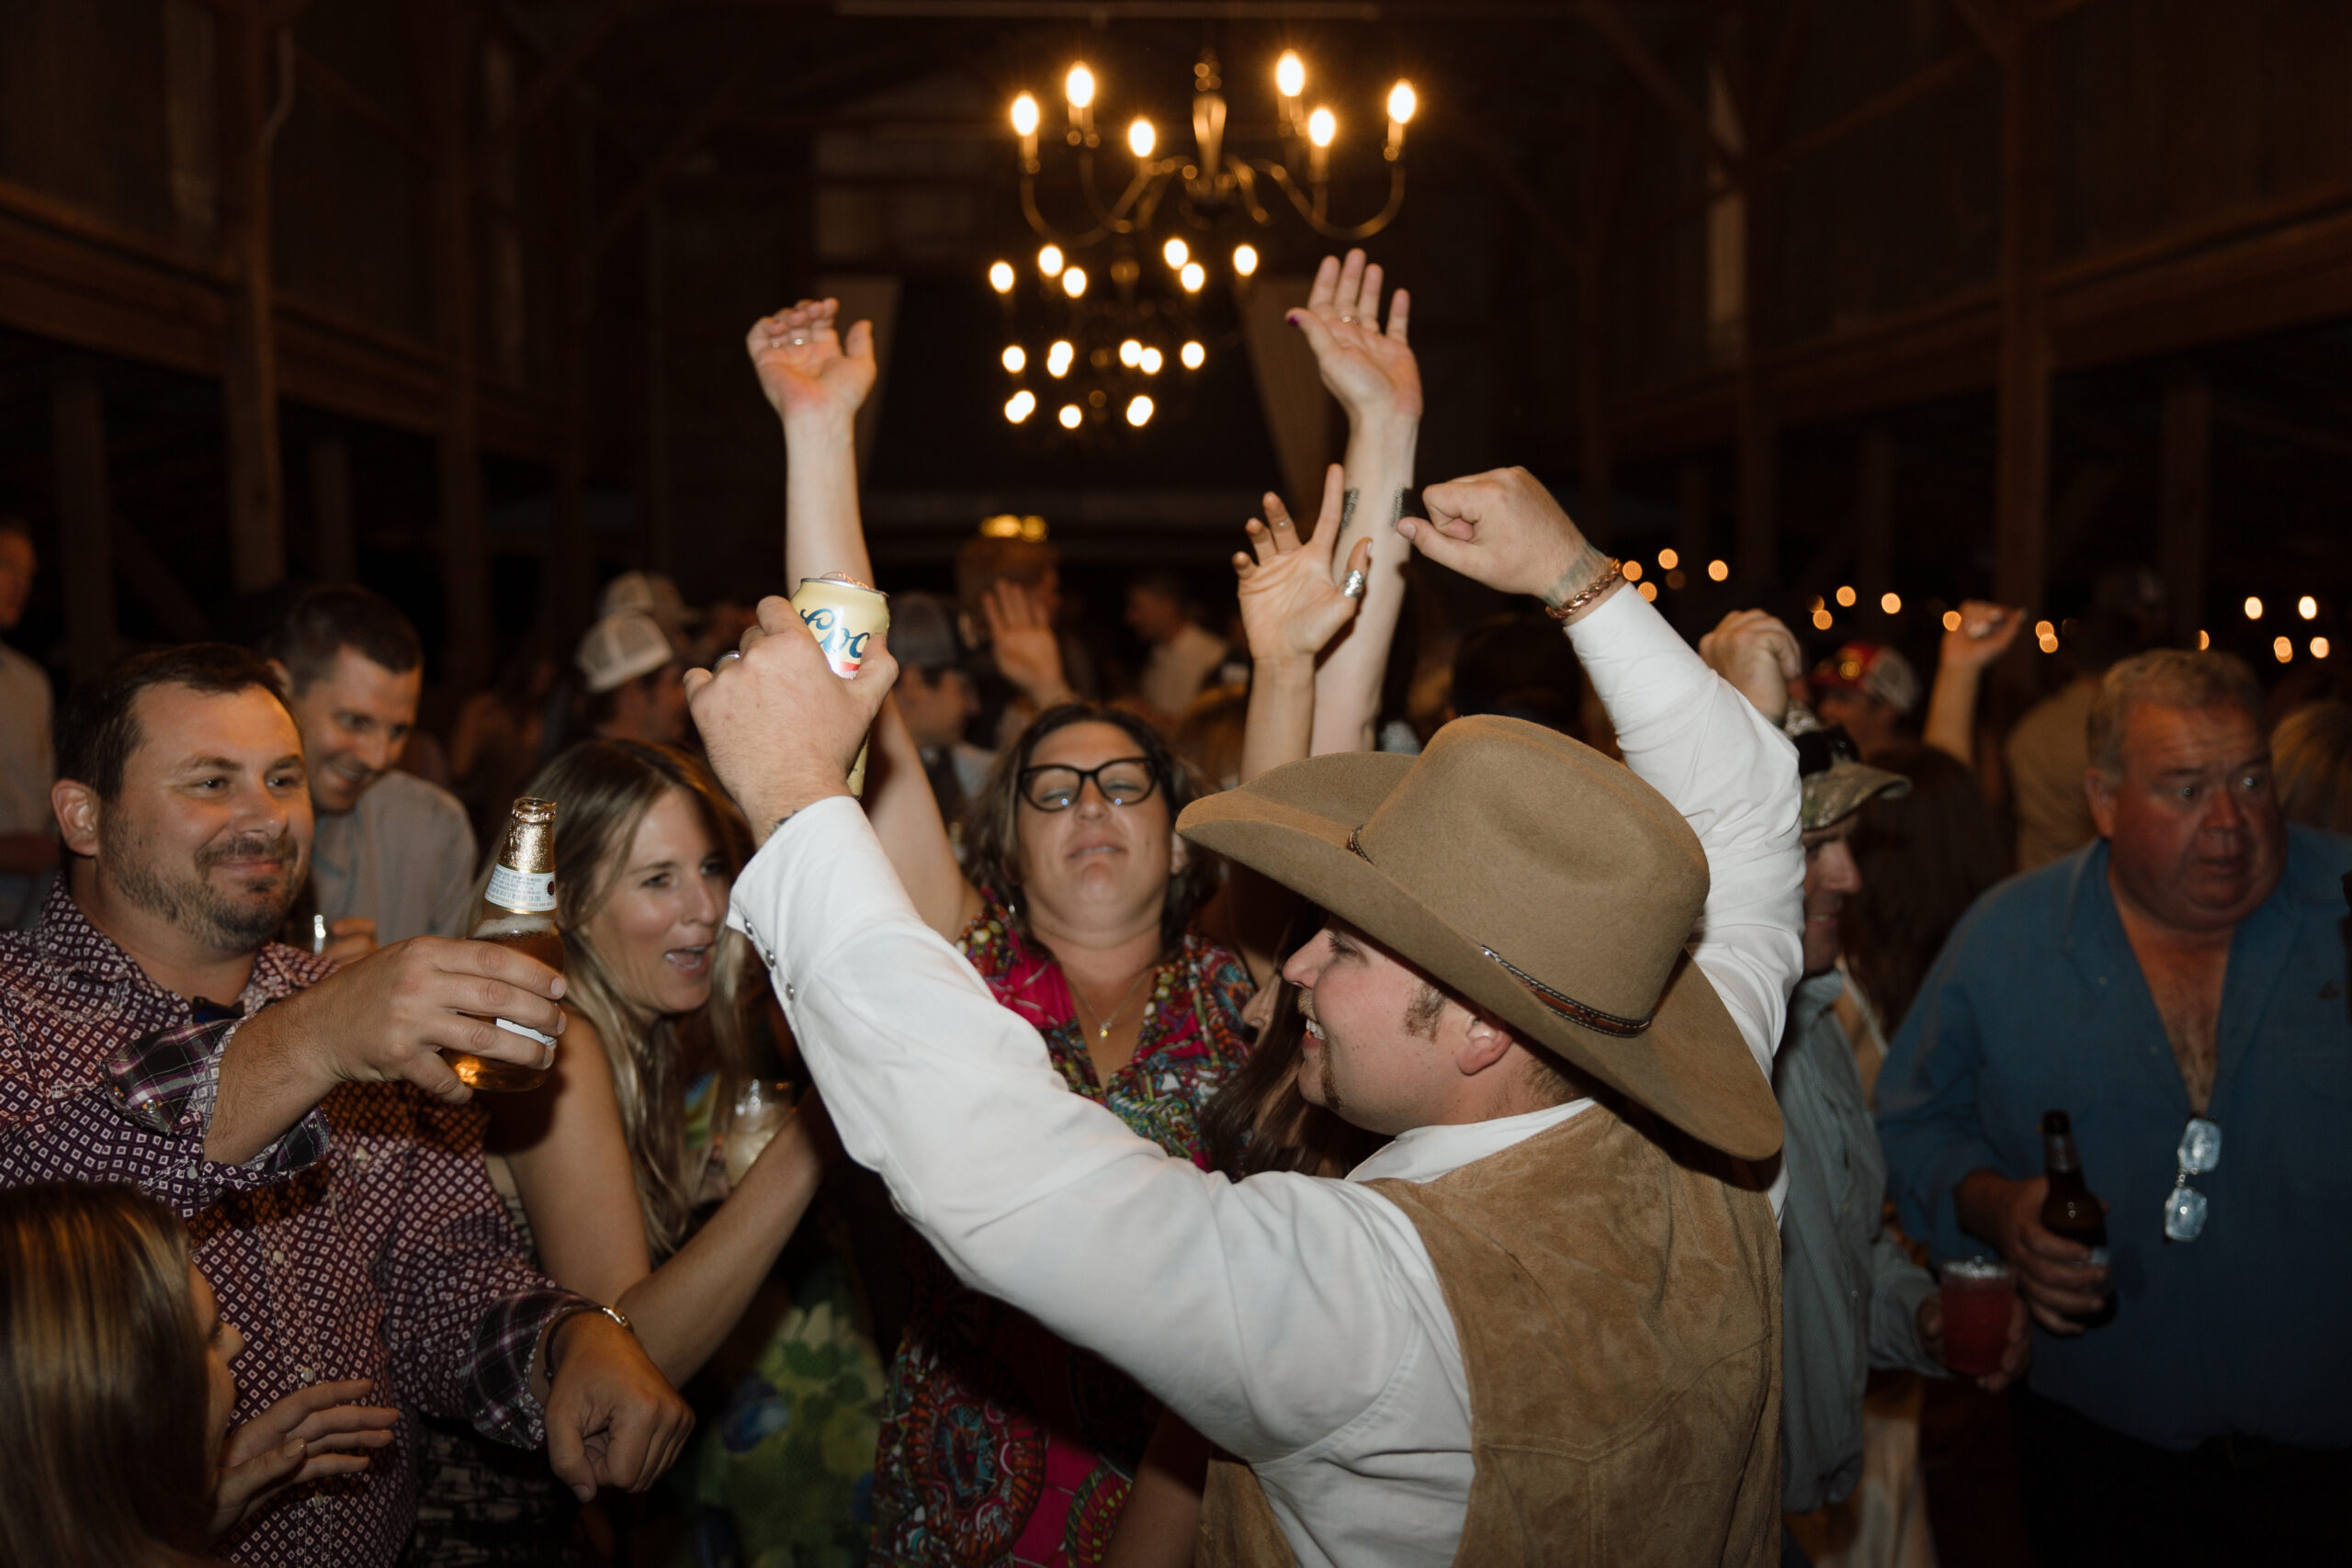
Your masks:
[{"label": "patterned sleeve on bottle-holding man's lowered arm, above his bracelet", "polygon": [[595,1307],[539,1269],[482,1168],[482,1112],[416,1100],[407,1199],[379,1265],[393,1373],[421,1408],[536,1448],[532,1354],[564,1312]]}]

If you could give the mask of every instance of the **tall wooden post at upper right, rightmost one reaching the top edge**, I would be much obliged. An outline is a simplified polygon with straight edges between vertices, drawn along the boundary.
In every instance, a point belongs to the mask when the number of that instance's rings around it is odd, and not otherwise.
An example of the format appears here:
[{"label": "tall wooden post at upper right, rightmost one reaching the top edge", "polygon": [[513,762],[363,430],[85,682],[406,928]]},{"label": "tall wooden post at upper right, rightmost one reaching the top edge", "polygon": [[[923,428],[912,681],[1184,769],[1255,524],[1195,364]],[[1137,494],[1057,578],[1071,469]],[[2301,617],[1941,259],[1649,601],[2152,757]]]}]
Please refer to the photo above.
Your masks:
[{"label": "tall wooden post at upper right, rightmost one reaching the top edge", "polygon": [[2011,0],[2002,49],[2002,348],[1992,477],[1992,595],[2027,611],[2042,609],[2049,588],[2051,487],[2051,339],[2042,289],[2049,38],[2034,24],[2037,9],[2037,0]]}]

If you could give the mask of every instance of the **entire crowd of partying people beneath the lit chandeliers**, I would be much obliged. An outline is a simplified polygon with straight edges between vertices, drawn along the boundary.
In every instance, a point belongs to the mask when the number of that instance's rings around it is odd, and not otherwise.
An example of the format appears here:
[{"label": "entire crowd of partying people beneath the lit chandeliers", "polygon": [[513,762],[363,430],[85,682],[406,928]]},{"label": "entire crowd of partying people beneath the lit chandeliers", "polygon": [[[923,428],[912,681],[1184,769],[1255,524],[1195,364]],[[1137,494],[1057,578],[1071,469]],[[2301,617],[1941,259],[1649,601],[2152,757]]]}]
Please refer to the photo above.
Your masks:
[{"label": "entire crowd of partying people beneath the lit chandeliers", "polygon": [[[997,534],[847,679],[623,574],[445,736],[358,585],[0,649],[0,1561],[1922,1563],[1943,1378],[2042,1561],[2352,1561],[2352,708],[2140,569],[2009,733],[2016,607],[1691,646],[1524,470],[1406,512],[1409,317],[1324,263],[1343,461],[1127,672]],[[873,334],[748,355],[889,590]],[[560,971],[466,940],[517,797]]]}]

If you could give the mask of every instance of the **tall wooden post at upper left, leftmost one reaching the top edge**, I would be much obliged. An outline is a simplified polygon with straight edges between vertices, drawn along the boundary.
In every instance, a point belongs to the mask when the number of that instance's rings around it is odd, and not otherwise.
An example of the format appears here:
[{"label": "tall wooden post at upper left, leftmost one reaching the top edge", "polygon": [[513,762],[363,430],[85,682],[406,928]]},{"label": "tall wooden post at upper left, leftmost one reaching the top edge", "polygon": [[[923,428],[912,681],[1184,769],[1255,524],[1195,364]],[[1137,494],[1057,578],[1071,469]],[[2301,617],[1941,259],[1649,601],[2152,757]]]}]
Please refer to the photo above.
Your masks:
[{"label": "tall wooden post at upper left, leftmost one reaching the top edge", "polygon": [[[287,576],[285,458],[278,444],[278,341],[270,282],[270,59],[278,31],[259,5],[223,5],[221,266],[230,277],[221,404],[228,435],[228,578],[240,592]],[[285,85],[278,87],[285,92]]]}]

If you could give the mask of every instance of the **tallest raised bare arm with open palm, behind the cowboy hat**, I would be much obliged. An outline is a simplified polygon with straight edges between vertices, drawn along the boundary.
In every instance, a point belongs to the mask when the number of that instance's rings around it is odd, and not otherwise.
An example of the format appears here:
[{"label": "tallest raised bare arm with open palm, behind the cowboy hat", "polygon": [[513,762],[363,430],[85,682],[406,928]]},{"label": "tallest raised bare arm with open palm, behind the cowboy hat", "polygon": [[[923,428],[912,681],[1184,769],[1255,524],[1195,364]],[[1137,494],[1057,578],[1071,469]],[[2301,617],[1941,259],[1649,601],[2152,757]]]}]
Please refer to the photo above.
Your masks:
[{"label": "tallest raised bare arm with open palm, behind the cowboy hat", "polygon": [[1331,550],[1334,581],[1355,559],[1355,545],[1371,541],[1364,567],[1364,607],[1345,635],[1322,658],[1315,677],[1315,752],[1369,752],[1381,717],[1381,677],[1388,644],[1404,609],[1404,562],[1411,548],[1397,536],[1404,491],[1414,487],[1414,444],[1421,440],[1421,367],[1406,346],[1411,294],[1388,301],[1381,329],[1381,268],[1364,252],[1324,256],[1315,287],[1291,324],[1315,350],[1324,386],[1348,411],[1345,496],[1338,541]]}]

